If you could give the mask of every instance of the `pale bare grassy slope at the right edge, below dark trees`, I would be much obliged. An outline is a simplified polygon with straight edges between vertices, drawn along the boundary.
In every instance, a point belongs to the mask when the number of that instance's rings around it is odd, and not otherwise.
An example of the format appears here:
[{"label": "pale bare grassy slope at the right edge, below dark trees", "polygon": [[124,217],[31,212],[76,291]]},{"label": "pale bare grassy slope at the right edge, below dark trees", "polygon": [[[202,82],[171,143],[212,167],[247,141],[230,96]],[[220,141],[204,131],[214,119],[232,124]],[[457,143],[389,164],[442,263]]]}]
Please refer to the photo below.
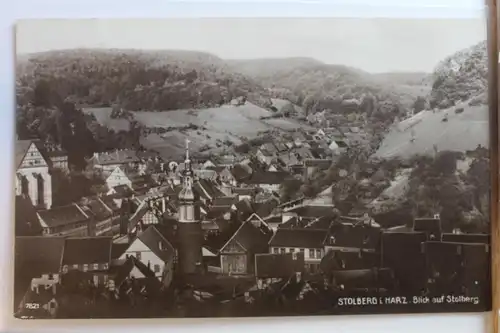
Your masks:
[{"label": "pale bare grassy slope at the right edge, below dark trees", "polygon": [[[463,107],[464,111],[455,113],[457,107]],[[375,156],[408,158],[415,154],[432,154],[434,145],[439,151],[462,152],[478,145],[488,147],[488,107],[471,107],[466,103],[457,107],[423,111],[398,123],[387,134]],[[443,121],[446,118],[448,121]]]}]

